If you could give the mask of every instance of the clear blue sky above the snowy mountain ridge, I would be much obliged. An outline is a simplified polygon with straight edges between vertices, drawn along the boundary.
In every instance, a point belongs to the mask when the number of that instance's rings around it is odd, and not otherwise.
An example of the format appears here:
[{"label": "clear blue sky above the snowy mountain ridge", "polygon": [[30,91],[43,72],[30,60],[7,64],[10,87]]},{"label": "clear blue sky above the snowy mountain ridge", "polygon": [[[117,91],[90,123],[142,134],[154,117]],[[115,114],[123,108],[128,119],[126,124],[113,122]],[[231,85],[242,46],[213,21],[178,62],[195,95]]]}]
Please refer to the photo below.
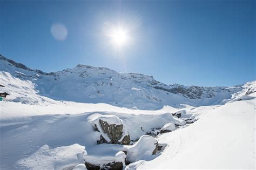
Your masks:
[{"label": "clear blue sky above the snowy mountain ridge", "polygon": [[[0,12],[0,53],[45,72],[86,64],[165,84],[256,79],[255,1],[1,1]],[[122,52],[103,46],[105,23],[118,21],[133,26]],[[53,38],[56,23],[65,40]]]}]

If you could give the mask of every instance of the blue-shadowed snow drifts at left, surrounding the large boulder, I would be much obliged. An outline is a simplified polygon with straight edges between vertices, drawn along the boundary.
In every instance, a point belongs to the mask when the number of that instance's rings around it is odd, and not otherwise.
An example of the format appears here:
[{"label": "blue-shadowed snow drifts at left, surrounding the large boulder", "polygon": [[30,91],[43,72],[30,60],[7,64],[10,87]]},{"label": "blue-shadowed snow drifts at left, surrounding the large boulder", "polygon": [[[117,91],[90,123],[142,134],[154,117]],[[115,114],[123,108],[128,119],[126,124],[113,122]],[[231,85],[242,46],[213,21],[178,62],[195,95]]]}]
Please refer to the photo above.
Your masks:
[{"label": "blue-shadowed snow drifts at left, surrounding the large boulder", "polygon": [[[34,109],[36,107],[38,106],[33,106]],[[26,105],[19,105],[18,109],[25,110]],[[3,114],[9,114],[9,112],[11,111]],[[124,120],[123,124],[133,140],[139,139],[152,128],[161,127],[168,122],[184,124],[183,120],[172,117],[170,113],[137,115],[92,112],[74,115],[37,115],[40,113],[34,112],[33,114],[34,116],[11,118],[3,115],[5,119],[0,120],[0,144],[4,147],[0,147],[0,169],[75,167],[83,163],[83,160],[77,157],[77,154],[83,152],[83,146],[85,146],[86,154],[91,158],[93,156],[109,158],[109,156],[114,157],[119,151],[127,151],[124,145],[97,144],[100,133],[94,130],[90,122],[90,117],[95,117],[95,115],[116,115]],[[149,154],[146,156],[149,157]],[[140,157],[142,158],[143,155]]]}]

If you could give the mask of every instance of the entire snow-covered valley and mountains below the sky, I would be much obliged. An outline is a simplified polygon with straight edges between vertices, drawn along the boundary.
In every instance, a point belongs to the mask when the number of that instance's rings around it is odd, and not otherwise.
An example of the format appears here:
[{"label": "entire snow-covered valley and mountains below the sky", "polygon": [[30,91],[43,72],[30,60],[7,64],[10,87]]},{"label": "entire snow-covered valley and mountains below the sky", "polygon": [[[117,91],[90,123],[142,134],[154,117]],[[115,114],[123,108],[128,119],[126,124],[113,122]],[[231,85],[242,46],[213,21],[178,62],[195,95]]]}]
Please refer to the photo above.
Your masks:
[{"label": "entire snow-covered valley and mountains below the sky", "polygon": [[0,169],[255,168],[255,80],[166,85],[81,64],[45,73],[0,56],[0,85]]}]

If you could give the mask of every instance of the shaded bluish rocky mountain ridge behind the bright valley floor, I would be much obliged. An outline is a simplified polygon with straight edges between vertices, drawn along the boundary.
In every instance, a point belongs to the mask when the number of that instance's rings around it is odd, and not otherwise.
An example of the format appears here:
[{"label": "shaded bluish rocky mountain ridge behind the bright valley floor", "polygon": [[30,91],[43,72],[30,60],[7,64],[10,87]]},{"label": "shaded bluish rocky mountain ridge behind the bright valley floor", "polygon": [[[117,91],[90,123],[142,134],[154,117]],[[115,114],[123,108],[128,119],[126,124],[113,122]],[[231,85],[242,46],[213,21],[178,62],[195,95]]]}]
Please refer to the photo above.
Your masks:
[{"label": "shaded bluish rocky mountain ridge behind the bright valley floor", "polygon": [[105,67],[82,64],[73,69],[46,73],[30,69],[2,55],[0,71],[9,72],[21,80],[30,80],[39,95],[51,99],[107,103],[144,110],[159,109],[165,105],[182,107],[181,104],[224,104],[225,99],[231,98],[232,94],[243,88],[166,85],[144,74],[120,73]]}]

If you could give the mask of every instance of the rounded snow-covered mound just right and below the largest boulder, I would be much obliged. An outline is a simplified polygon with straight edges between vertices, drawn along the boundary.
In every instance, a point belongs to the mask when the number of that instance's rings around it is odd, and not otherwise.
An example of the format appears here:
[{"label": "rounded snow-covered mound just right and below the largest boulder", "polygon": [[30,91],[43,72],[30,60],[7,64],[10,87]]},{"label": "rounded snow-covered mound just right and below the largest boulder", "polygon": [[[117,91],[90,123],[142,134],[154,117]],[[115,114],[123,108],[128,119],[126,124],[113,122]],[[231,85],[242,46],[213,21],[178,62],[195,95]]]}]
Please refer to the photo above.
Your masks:
[{"label": "rounded snow-covered mound just right and below the largest boulder", "polygon": [[157,153],[158,142],[150,135],[142,135],[139,140],[132,146],[127,147],[127,161],[135,162],[146,160]]}]

